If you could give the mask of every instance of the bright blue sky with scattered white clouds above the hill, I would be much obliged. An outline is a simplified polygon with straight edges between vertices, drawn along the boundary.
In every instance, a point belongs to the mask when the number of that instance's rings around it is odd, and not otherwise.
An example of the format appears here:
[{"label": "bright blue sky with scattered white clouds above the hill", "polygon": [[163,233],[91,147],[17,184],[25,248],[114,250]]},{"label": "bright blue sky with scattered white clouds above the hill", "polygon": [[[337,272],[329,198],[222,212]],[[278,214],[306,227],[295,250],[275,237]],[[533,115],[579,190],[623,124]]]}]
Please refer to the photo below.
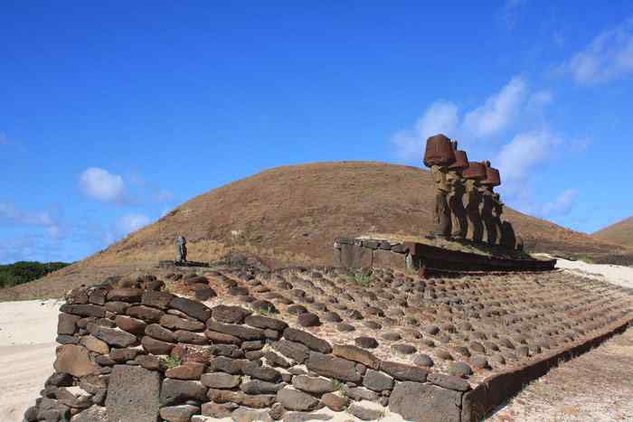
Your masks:
[{"label": "bright blue sky with scattered white clouds above the hill", "polygon": [[520,211],[633,214],[631,2],[89,3],[0,4],[0,262],[277,165],[421,165],[437,132]]}]

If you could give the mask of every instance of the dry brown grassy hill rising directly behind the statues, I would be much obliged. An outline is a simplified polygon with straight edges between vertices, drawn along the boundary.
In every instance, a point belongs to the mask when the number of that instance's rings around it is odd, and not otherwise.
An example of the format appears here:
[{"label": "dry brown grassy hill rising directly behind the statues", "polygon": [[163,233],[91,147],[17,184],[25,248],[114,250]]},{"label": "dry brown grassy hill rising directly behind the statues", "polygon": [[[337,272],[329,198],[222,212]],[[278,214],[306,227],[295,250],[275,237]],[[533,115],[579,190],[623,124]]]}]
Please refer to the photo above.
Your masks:
[{"label": "dry brown grassy hill rising directly behind the statues", "polygon": [[[175,239],[187,239],[192,260],[213,261],[229,252],[259,257],[270,267],[331,265],[337,236],[426,234],[431,228],[430,173],[419,167],[373,162],[283,166],[203,193],[156,223],[108,249],[24,286],[0,299],[61,295],[128,271],[146,271],[174,259]],[[505,209],[531,251],[608,258],[633,249]]]}]

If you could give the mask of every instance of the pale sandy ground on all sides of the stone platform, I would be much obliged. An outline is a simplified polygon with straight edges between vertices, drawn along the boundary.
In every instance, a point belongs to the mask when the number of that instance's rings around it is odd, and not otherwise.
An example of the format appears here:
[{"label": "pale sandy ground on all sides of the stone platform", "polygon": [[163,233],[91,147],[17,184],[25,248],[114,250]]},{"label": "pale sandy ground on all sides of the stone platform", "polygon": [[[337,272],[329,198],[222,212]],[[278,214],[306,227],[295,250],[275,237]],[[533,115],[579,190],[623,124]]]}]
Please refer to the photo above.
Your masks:
[{"label": "pale sandy ground on all sides of the stone platform", "polygon": [[[558,267],[633,288],[633,267],[558,260]],[[0,421],[20,422],[52,373],[59,300],[0,303]],[[633,421],[633,329],[535,380],[490,421]],[[321,420],[357,421],[322,410]],[[201,420],[213,420],[201,418]],[[219,419],[216,419],[219,420]],[[230,420],[230,419],[226,419]],[[388,410],[384,422],[402,418]]]}]

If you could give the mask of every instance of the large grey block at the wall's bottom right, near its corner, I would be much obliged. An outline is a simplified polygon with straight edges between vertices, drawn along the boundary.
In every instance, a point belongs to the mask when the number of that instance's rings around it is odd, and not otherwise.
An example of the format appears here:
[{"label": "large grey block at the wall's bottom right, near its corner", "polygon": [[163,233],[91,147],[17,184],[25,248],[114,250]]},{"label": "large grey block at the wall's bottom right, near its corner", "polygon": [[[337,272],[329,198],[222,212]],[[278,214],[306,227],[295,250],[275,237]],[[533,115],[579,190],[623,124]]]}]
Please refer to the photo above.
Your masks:
[{"label": "large grey block at the wall's bottom right, near its corner", "polygon": [[449,389],[399,382],[389,398],[389,409],[404,419],[425,422],[459,422],[461,393]]}]

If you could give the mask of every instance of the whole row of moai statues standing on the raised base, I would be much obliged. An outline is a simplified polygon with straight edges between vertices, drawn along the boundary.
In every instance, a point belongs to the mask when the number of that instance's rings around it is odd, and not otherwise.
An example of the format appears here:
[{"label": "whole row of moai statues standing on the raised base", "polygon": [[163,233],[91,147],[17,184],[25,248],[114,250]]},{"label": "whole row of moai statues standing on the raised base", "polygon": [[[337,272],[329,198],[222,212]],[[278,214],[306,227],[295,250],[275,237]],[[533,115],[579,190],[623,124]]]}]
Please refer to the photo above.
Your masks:
[{"label": "whole row of moai statues standing on the raised base", "polygon": [[501,218],[501,177],[490,162],[469,162],[456,141],[439,134],[427,139],[424,164],[435,183],[434,236],[523,250],[523,239]]}]

